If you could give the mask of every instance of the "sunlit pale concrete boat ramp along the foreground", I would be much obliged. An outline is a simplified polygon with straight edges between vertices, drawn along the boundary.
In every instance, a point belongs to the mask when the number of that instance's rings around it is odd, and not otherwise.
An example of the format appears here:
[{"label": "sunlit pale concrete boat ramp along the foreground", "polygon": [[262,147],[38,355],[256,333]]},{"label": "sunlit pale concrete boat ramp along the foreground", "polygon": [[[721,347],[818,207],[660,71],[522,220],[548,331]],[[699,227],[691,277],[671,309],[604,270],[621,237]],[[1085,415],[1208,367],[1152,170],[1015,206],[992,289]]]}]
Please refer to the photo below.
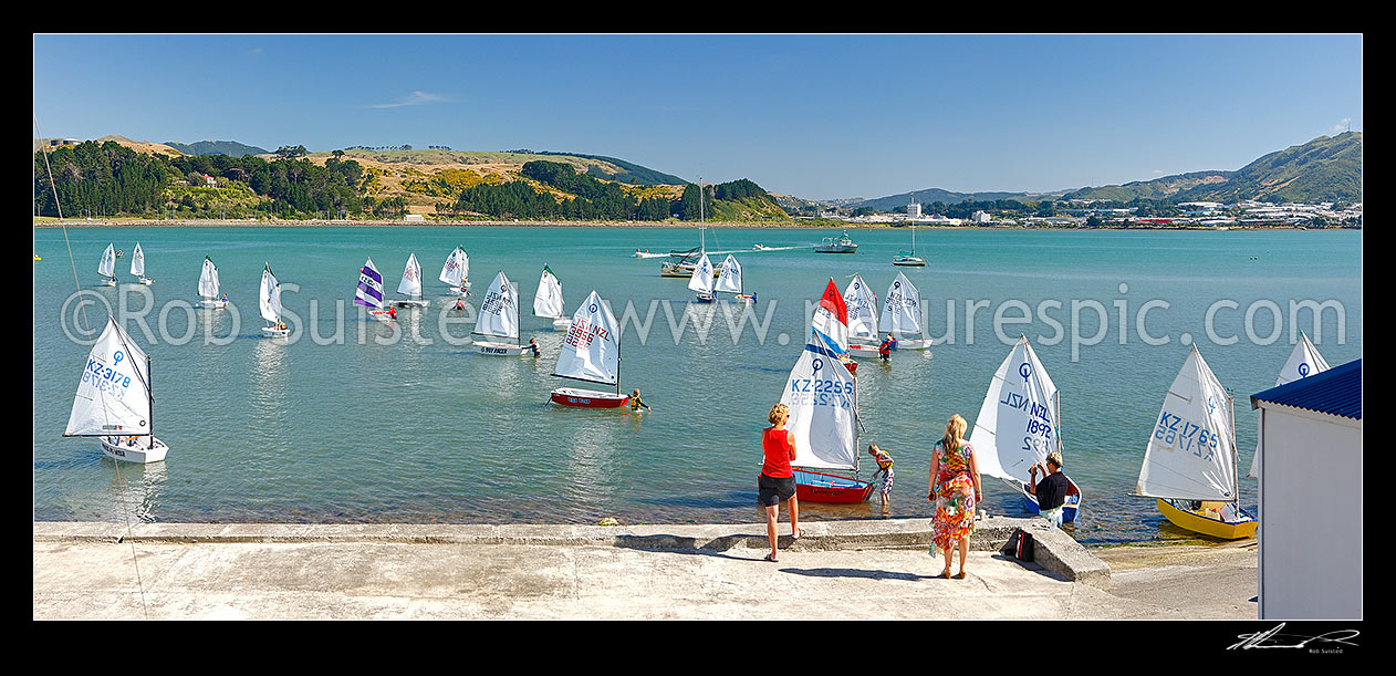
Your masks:
[{"label": "sunlit pale concrete boat ramp along the foreground", "polygon": [[1041,520],[981,520],[966,580],[930,520],[805,522],[778,563],[764,524],[34,528],[35,619],[1256,617],[1254,541],[1087,550]]}]

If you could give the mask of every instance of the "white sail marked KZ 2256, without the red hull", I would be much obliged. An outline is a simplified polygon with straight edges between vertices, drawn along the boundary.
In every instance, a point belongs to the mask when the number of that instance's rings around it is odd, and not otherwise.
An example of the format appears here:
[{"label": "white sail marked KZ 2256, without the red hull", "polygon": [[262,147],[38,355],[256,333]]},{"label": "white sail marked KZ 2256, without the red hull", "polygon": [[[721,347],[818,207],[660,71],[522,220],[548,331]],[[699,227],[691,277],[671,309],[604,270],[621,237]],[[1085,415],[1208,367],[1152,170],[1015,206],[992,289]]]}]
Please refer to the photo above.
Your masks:
[{"label": "white sail marked KZ 2256, without the red hull", "polygon": [[780,404],[790,406],[786,429],[794,433],[796,466],[807,469],[857,469],[853,426],[853,374],[832,356],[818,334],[805,345],[790,370]]}]

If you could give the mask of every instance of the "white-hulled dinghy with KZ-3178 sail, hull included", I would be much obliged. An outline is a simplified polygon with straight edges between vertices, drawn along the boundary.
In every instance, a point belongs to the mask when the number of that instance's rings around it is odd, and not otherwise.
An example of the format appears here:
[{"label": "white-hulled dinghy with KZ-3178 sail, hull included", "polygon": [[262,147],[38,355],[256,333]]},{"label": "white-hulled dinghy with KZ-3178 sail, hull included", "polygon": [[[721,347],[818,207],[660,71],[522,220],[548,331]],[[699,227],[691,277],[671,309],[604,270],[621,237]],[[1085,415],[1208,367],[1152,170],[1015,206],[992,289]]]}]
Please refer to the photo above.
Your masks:
[{"label": "white-hulled dinghy with KZ-3178 sail, hull included", "polygon": [[88,353],[63,436],[98,437],[112,460],[159,462],[169,447],[155,439],[154,411],[149,358],[109,316]]}]

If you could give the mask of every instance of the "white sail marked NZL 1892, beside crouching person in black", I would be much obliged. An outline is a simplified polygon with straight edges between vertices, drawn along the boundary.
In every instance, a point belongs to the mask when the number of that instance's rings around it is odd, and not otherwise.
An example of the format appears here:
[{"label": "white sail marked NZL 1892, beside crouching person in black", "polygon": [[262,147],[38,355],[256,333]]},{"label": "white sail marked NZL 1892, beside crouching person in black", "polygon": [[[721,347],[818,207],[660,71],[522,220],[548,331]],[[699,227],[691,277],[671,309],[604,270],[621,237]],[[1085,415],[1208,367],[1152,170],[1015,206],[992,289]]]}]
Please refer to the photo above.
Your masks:
[{"label": "white sail marked NZL 1892, beside crouching person in black", "polygon": [[988,384],[969,443],[979,472],[1026,483],[1027,469],[1060,450],[1057,385],[1026,337],[1008,352]]}]

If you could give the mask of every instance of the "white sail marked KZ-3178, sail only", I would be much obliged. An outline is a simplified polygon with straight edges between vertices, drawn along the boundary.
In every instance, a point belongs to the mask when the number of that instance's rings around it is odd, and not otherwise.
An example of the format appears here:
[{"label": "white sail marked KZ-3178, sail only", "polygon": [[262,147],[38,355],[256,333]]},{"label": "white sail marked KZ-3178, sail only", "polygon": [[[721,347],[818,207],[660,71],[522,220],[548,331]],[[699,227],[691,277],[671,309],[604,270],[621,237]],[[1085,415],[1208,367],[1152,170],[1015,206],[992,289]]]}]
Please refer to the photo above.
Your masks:
[{"label": "white sail marked KZ-3178, sail only", "polygon": [[92,345],[64,436],[151,433],[149,365],[145,352],[107,317]]}]

